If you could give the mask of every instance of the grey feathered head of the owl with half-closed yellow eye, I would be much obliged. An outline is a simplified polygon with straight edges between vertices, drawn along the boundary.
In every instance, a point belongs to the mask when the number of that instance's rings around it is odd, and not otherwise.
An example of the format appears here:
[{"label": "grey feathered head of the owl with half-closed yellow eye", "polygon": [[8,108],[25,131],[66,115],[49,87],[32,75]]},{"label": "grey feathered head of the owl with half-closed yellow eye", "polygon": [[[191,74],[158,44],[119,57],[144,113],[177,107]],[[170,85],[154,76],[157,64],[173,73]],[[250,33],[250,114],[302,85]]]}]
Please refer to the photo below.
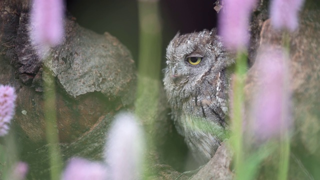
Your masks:
[{"label": "grey feathered head of the owl with half-closed yellow eye", "polygon": [[166,58],[163,81],[169,98],[187,97],[196,91],[213,93],[217,80],[225,81],[226,67],[234,63],[215,29],[177,33],[166,48]]}]

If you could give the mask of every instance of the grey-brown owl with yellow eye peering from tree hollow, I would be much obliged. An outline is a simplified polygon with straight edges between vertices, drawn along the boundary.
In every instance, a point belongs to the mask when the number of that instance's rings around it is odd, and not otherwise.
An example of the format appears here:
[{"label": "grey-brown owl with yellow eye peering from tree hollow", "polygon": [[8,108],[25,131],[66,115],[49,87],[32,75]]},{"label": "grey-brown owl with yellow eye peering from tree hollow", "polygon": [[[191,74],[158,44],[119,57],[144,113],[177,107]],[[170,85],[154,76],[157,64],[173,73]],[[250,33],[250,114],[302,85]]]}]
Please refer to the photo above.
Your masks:
[{"label": "grey-brown owl with yellow eye peering from tree hollow", "polygon": [[199,163],[228,137],[227,92],[234,55],[216,30],[177,33],[166,48],[164,89],[175,127]]}]

